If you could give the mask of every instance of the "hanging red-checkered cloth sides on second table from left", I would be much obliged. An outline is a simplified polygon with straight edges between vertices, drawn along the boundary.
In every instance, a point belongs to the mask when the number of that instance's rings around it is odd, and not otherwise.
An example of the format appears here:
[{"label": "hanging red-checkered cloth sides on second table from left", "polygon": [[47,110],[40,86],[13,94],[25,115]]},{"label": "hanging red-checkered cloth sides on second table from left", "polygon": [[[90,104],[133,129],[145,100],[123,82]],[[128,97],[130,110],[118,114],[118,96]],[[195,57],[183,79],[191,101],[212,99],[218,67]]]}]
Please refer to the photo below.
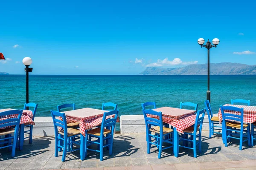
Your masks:
[{"label": "hanging red-checkered cloth sides on second table from left", "polygon": [[[89,130],[89,129],[96,127],[102,123],[103,115],[104,114],[98,114],[96,116],[88,116],[85,118],[81,118],[78,116],[66,115],[66,119],[67,119],[67,123],[79,122],[80,133],[83,136],[85,136],[85,130]],[[115,115],[107,116],[106,119],[109,119],[112,116],[115,116]],[[117,116],[116,122],[120,122],[118,116]]]}]

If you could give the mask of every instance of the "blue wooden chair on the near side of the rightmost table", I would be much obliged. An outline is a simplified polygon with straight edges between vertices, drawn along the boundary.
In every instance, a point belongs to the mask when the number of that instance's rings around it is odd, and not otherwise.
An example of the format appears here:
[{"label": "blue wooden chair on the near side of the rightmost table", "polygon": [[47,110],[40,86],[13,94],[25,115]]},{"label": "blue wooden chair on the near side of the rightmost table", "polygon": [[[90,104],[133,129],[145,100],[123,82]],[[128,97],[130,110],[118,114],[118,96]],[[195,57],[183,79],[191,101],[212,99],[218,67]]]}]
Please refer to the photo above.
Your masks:
[{"label": "blue wooden chair on the near side of the rightmost table", "polygon": [[[227,111],[233,112],[233,113],[227,113]],[[233,106],[221,106],[221,114],[222,114],[222,137],[223,137],[225,147],[227,147],[227,139],[229,139],[230,141],[230,138],[239,139],[240,141],[239,150],[242,150],[243,142],[248,141],[248,145],[250,146],[250,126],[247,124],[244,124],[243,122],[244,108],[236,108]],[[231,121],[236,121],[236,122],[231,122]],[[240,128],[240,130],[236,130],[237,128]],[[239,132],[240,134],[233,133],[233,131]],[[238,136],[238,137],[234,137],[234,136]],[[247,139],[243,140],[243,137],[247,137]]]}]

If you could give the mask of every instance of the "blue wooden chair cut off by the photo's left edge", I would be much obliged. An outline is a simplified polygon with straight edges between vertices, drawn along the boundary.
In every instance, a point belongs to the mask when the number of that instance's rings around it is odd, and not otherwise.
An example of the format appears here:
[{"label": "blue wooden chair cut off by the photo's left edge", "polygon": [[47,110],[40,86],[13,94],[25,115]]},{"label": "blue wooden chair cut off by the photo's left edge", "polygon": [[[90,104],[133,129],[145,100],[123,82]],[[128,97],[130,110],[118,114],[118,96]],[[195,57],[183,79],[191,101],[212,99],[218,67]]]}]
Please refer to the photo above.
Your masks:
[{"label": "blue wooden chair cut off by the photo's left edge", "polygon": [[[17,115],[17,116],[13,116],[13,115]],[[22,110],[11,110],[11,111],[4,111],[0,113],[1,119],[6,118],[3,120],[0,120],[0,128],[6,127],[4,129],[0,129],[0,149],[9,147],[9,150],[12,150],[12,154],[11,154],[12,157],[15,156],[15,149],[17,144],[21,115],[22,115]],[[12,136],[12,133],[14,133],[14,136]],[[4,136],[4,137],[1,138],[1,136]],[[13,139],[13,143],[12,143],[12,139]],[[5,145],[1,147],[1,144],[5,144]]]}]

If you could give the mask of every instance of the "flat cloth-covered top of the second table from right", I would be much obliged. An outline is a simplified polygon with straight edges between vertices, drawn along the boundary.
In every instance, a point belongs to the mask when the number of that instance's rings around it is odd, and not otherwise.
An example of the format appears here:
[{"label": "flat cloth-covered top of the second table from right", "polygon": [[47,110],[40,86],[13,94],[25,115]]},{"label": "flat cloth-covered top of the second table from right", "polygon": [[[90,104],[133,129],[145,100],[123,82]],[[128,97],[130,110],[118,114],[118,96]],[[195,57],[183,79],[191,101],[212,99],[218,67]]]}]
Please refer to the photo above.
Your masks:
[{"label": "flat cloth-covered top of the second table from right", "polygon": [[156,109],[153,109],[153,111],[162,112],[163,115],[169,115],[169,116],[182,116],[190,113],[195,113],[195,111],[193,110],[171,108],[171,107],[156,108]]}]

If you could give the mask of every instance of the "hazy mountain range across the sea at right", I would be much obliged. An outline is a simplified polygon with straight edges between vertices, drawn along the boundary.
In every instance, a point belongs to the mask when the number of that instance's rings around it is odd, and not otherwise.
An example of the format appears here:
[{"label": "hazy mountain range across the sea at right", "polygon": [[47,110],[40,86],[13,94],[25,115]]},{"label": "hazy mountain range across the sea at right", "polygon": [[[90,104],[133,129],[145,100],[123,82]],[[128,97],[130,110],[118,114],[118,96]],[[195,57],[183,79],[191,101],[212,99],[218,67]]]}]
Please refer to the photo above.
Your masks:
[{"label": "hazy mountain range across the sea at right", "polygon": [[[210,63],[211,75],[256,75],[256,65],[221,62]],[[191,64],[180,68],[148,67],[140,75],[207,75],[207,64]]]}]

